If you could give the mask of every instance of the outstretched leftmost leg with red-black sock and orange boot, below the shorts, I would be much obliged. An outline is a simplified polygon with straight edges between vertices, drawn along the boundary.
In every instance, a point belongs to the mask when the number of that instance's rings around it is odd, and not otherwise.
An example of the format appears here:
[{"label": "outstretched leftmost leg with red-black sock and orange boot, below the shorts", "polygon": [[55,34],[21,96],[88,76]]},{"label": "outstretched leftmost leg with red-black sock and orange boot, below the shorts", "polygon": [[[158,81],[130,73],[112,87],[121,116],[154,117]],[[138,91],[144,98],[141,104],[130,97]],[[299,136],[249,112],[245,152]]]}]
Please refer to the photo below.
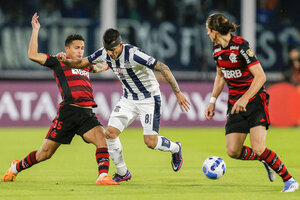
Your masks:
[{"label": "outstretched leftmost leg with red-black sock and orange boot, below the shorts", "polygon": [[60,143],[45,139],[40,150],[30,152],[21,161],[14,160],[10,168],[4,174],[3,181],[14,181],[19,172],[51,158],[59,146]]}]

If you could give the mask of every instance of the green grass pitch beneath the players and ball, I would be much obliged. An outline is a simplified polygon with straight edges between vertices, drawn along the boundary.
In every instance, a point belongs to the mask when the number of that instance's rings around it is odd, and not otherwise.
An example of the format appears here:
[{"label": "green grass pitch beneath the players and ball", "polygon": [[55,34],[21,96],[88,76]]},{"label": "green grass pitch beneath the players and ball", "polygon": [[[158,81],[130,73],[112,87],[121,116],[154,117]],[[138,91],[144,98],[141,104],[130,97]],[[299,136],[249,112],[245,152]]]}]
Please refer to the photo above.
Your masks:
[{"label": "green grass pitch beneath the players and ball", "polygon": [[[22,159],[40,148],[46,132],[47,128],[0,129],[1,179],[12,160]],[[95,185],[95,148],[76,136],[71,145],[62,145],[50,160],[18,174],[15,182],[1,182],[0,199],[300,199],[299,190],[280,193],[281,178],[277,176],[275,182],[269,182],[260,162],[229,158],[223,128],[162,128],[160,135],[182,143],[184,162],[179,172],[171,169],[169,152],[148,149],[142,129],[130,128],[120,138],[132,179],[119,186]],[[249,140],[246,144],[249,145]],[[270,129],[267,147],[279,155],[299,181],[299,128]],[[222,157],[227,165],[224,177],[219,180],[207,179],[201,170],[203,161],[212,155]],[[110,174],[114,172],[111,163]]]}]

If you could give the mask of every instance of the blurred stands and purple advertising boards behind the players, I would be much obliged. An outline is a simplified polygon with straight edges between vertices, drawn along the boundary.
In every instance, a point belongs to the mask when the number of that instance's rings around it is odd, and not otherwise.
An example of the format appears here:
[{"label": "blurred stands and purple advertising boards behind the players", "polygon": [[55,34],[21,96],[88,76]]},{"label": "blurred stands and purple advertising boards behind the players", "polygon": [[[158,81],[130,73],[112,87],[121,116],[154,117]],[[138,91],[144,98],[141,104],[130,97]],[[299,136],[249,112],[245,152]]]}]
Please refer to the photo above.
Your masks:
[{"label": "blurred stands and purple advertising boards behind the players", "polygon": [[[171,89],[158,76],[162,126],[224,125],[226,90],[215,119],[208,122],[203,115],[215,76],[205,20],[222,12],[240,25],[236,34],[250,41],[266,71],[273,125],[297,126],[300,69],[290,65],[289,50],[300,47],[299,5],[294,0],[0,0],[0,126],[48,126],[56,114],[60,97],[52,73],[27,58],[34,12],[40,15],[40,52],[63,51],[66,36],[79,33],[89,55],[102,46],[103,31],[116,27],[125,42],[169,65],[193,109],[180,113]],[[111,72],[91,79],[100,105],[95,112],[106,124],[121,87]]]}]

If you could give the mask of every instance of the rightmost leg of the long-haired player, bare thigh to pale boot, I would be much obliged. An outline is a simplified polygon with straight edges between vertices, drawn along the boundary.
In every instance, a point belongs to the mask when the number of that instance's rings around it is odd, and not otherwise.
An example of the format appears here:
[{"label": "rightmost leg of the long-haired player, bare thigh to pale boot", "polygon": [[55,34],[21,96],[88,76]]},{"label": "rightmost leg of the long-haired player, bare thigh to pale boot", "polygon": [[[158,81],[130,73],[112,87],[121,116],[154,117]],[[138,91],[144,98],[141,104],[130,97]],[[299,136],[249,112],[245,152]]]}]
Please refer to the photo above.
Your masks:
[{"label": "rightmost leg of the long-haired player, bare thigh to pale boot", "polygon": [[250,129],[250,141],[253,151],[259,156],[260,160],[268,164],[268,166],[282,178],[285,183],[282,192],[294,192],[298,189],[299,184],[287,171],[278,155],[274,151],[266,148],[266,134],[265,126],[256,126]]}]

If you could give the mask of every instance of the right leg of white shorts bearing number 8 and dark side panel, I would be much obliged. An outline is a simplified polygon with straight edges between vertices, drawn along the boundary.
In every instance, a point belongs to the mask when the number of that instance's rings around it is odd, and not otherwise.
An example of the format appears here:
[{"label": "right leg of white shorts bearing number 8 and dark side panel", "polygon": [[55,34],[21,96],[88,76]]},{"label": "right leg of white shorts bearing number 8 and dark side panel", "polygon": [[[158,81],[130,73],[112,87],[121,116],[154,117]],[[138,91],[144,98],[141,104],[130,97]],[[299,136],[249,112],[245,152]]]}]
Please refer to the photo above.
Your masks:
[{"label": "right leg of white shorts bearing number 8 and dark side panel", "polygon": [[144,135],[156,135],[159,132],[161,116],[160,95],[144,99],[138,104],[139,117]]}]

